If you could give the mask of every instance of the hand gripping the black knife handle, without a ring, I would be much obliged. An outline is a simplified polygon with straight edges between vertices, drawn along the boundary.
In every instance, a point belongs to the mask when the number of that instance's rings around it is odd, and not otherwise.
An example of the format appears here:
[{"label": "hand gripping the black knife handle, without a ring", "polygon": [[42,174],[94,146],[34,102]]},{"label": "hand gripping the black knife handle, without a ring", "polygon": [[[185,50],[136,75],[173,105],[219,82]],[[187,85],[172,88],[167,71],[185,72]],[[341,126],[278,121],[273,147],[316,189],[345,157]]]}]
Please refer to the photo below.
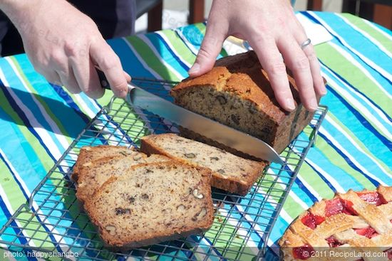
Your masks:
[{"label": "hand gripping the black knife handle, without a ring", "polygon": [[[130,81],[120,59],[101,36],[96,23],[65,0],[29,0],[11,20],[23,39],[31,63],[48,82],[70,92],[102,97],[97,65],[114,94],[125,97]],[[23,15],[21,15],[23,14]]]}]

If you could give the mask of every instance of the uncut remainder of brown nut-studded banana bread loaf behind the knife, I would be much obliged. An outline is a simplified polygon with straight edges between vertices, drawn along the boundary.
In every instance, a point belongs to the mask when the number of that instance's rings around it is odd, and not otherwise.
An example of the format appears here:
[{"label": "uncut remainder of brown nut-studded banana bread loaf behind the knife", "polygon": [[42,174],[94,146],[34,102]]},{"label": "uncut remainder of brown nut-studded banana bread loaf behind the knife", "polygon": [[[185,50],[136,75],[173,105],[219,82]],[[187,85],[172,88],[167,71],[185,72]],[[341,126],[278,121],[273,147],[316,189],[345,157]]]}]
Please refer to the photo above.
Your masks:
[{"label": "uncut remainder of brown nut-studded banana bread loaf behind the knife", "polygon": [[[173,87],[171,95],[177,105],[262,139],[280,153],[313,117],[301,105],[294,79],[287,77],[296,103],[293,112],[279,106],[253,51],[217,60],[209,73],[183,80]],[[211,144],[190,132],[182,134]]]}]

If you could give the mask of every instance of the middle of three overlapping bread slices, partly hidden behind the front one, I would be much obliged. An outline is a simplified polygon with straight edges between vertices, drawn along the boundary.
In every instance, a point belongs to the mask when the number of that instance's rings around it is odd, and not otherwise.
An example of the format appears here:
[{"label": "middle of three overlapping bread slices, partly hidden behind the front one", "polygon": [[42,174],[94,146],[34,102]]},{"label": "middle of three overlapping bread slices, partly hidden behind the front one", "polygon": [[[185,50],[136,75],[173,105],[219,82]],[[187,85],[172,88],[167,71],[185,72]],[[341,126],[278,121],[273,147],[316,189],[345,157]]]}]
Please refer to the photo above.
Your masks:
[{"label": "middle of three overlapping bread slices, partly hidden behind the front one", "polygon": [[96,159],[89,161],[80,167],[78,173],[78,189],[76,191],[76,198],[81,203],[85,203],[93,193],[99,188],[110,176],[120,176],[130,166],[137,164],[146,164],[152,162],[169,161],[170,159],[162,155],[147,156],[142,152],[131,151],[130,154],[121,154],[109,156],[107,158]]}]

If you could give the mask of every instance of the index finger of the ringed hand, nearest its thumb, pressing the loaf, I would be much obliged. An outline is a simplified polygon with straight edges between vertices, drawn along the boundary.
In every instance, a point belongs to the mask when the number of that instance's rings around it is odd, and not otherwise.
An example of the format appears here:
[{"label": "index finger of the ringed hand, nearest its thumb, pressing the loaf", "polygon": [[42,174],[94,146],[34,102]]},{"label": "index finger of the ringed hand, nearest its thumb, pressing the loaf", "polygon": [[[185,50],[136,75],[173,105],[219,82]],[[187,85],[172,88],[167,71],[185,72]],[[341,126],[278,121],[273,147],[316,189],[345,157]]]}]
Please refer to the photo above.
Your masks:
[{"label": "index finger of the ringed hand, nearest its thumb, pressing the loaf", "polygon": [[289,87],[286,66],[283,63],[282,55],[279,53],[274,38],[263,36],[249,38],[248,41],[268,74],[277,102],[284,110],[291,112],[295,109],[294,99]]}]

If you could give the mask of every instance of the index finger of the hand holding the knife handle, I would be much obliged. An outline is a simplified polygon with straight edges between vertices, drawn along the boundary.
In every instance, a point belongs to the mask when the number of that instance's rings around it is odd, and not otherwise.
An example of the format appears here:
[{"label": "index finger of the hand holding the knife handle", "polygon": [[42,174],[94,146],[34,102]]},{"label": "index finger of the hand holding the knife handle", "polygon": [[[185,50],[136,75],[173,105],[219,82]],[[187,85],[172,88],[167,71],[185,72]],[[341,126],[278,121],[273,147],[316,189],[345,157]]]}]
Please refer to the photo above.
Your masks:
[{"label": "index finger of the hand holding the knife handle", "polygon": [[125,97],[128,92],[127,79],[124,75],[120,58],[105,41],[93,43],[90,46],[90,55],[93,63],[105,73],[111,90],[117,97]]}]

